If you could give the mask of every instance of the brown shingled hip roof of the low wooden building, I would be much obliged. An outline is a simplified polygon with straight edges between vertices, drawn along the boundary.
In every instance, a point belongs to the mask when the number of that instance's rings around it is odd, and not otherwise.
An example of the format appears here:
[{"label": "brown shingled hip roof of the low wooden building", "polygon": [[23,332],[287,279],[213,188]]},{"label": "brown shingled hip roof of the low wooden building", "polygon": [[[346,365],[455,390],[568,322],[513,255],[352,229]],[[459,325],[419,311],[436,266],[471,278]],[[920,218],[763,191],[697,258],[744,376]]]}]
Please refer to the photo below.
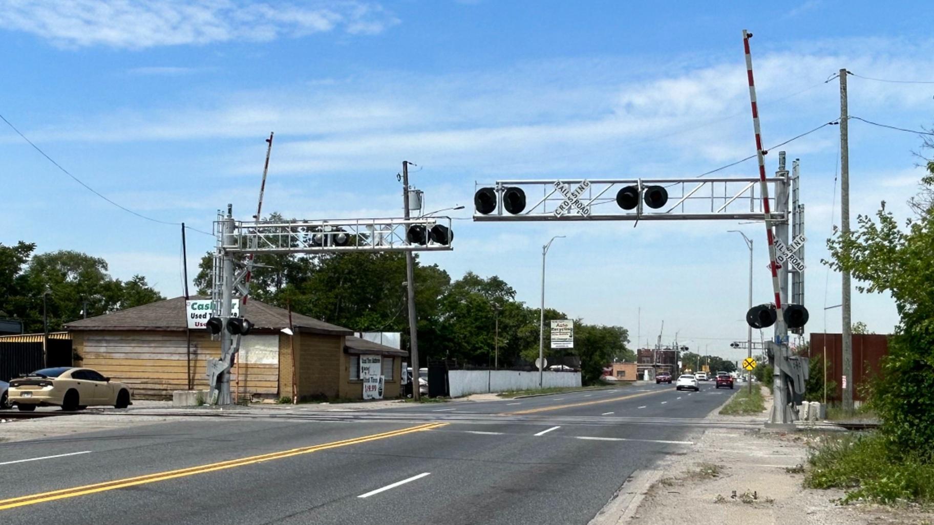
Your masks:
[{"label": "brown shingled hip roof of the low wooden building", "polygon": [[[209,299],[205,296],[192,296],[191,299]],[[249,319],[257,329],[280,330],[289,326],[289,311],[278,306],[266,305],[250,299],[241,305],[240,313]],[[353,335],[347,328],[312,319],[292,312],[292,326],[300,332],[324,333],[331,335]],[[168,330],[180,331],[186,327],[185,298],[176,297],[149,305],[134,306],[88,319],[76,320],[65,325],[66,330]]]}]

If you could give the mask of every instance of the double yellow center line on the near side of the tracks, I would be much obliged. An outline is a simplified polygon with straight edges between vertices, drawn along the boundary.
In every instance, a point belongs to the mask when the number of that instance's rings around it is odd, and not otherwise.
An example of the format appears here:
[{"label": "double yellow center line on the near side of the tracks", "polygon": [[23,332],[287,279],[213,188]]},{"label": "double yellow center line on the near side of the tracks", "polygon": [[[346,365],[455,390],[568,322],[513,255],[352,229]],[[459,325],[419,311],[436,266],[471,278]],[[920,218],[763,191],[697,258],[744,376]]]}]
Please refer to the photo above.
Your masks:
[{"label": "double yellow center line on the near side of the tracks", "polygon": [[29,495],[20,496],[17,498],[0,500],[0,510],[5,510],[7,508],[14,508],[14,507],[24,506],[24,505],[51,502],[54,500],[61,500],[64,498],[74,498],[76,496],[93,494],[95,492],[103,492],[105,490],[123,489],[125,487],[133,487],[135,485],[144,485],[147,483],[154,483],[156,481],[164,481],[166,479],[175,479],[177,477],[205,474],[208,472],[215,472],[219,470],[240,467],[240,466],[249,465],[253,463],[259,463],[262,461],[281,460],[283,458],[290,458],[291,456],[298,456],[300,454],[310,454],[312,452],[318,452],[319,450],[327,450],[328,448],[347,447],[349,445],[357,445],[359,443],[366,443],[367,441],[375,441],[377,439],[386,439],[388,437],[395,437],[397,435],[403,435],[406,433],[428,431],[428,430],[436,429],[439,427],[443,427],[446,424],[447,423],[429,423],[429,424],[424,424],[424,425],[417,425],[415,427],[408,427],[408,428],[399,429],[396,431],[390,431],[386,433],[375,433],[375,434],[370,434],[370,435],[363,435],[361,437],[345,439],[342,441],[333,441],[331,443],[313,445],[310,447],[291,448],[289,450],[280,450],[278,452],[270,452],[268,454],[260,454],[258,456],[249,456],[247,458],[240,458],[237,460],[219,461],[216,463],[207,463],[204,465],[197,465],[193,467],[170,470],[170,471],[159,472],[159,473],[154,473],[154,474],[149,474],[149,475],[137,475],[134,477],[125,477],[123,479],[115,479],[112,481],[105,481],[103,483],[94,483],[92,485],[83,485],[80,487],[72,487],[69,489],[51,490],[50,492],[29,494]]}]

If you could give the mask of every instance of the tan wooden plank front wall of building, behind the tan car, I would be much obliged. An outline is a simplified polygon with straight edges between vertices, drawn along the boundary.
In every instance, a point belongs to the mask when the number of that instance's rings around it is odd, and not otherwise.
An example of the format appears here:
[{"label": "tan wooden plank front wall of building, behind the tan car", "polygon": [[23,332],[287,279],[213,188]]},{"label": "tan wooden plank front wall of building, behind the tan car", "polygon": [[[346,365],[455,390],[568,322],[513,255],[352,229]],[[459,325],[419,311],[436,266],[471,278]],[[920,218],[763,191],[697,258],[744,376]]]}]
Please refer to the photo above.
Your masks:
[{"label": "tan wooden plank front wall of building, behind the tan car", "polygon": [[[173,390],[188,388],[182,331],[88,331],[76,333],[74,343],[83,358],[80,366],[126,383],[136,397],[167,398]],[[206,333],[191,333],[191,376],[195,390],[207,388],[205,360],[217,359],[219,355],[219,341],[211,341]],[[278,366],[241,363],[240,372],[247,382],[239,384],[239,391],[275,396],[279,388]],[[238,380],[236,368],[233,367],[231,377],[232,389]]]}]

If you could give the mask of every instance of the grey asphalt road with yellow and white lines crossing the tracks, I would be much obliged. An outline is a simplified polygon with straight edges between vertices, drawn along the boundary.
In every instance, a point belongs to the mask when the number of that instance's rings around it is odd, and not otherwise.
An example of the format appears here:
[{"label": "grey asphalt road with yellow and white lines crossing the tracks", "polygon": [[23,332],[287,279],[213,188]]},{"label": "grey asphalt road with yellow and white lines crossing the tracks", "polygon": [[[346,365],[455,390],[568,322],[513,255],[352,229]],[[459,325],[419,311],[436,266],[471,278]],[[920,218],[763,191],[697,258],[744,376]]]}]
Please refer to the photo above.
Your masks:
[{"label": "grey asphalt road with yellow and white lines crossing the tracks", "polygon": [[168,420],[0,444],[0,523],[587,523],[735,390]]}]

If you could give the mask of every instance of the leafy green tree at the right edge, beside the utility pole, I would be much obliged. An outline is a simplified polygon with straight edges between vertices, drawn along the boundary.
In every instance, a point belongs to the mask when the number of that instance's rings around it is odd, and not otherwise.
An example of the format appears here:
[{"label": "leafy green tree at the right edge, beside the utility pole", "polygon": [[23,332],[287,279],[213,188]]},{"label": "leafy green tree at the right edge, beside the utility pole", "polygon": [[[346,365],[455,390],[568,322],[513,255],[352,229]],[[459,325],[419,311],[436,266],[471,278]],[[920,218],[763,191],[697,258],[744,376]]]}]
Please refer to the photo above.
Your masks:
[{"label": "leafy green tree at the right edge, beside the utility pole", "polygon": [[[934,163],[922,179],[923,194],[934,191]],[[918,206],[904,227],[882,204],[873,220],[857,218],[858,228],[828,239],[830,261],[848,270],[863,292],[889,292],[899,325],[889,339],[881,376],[870,405],[893,450],[934,452],[934,212]],[[928,456],[929,457],[929,456]]]}]

